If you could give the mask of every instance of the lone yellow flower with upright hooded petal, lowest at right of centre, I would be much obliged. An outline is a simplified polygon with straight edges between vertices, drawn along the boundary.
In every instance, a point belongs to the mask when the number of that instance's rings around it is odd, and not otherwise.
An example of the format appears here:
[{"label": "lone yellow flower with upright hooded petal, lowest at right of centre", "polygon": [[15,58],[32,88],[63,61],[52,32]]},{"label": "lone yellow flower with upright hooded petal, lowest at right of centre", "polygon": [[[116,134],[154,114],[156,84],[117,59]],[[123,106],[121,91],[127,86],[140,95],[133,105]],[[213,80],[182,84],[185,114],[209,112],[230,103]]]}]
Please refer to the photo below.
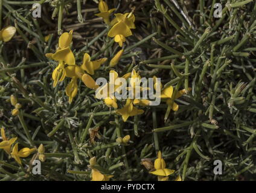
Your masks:
[{"label": "lone yellow flower with upright hooded petal, lowest at right of centre", "polygon": [[[171,174],[174,173],[173,169],[167,169],[165,168],[165,166],[166,166],[165,161],[164,159],[162,159],[161,151],[158,151],[158,158],[155,160],[155,163],[154,163],[154,167],[156,170],[151,171],[150,173],[156,176],[165,176],[165,177],[170,176]],[[160,180],[168,180],[168,179],[160,178]]]}]

